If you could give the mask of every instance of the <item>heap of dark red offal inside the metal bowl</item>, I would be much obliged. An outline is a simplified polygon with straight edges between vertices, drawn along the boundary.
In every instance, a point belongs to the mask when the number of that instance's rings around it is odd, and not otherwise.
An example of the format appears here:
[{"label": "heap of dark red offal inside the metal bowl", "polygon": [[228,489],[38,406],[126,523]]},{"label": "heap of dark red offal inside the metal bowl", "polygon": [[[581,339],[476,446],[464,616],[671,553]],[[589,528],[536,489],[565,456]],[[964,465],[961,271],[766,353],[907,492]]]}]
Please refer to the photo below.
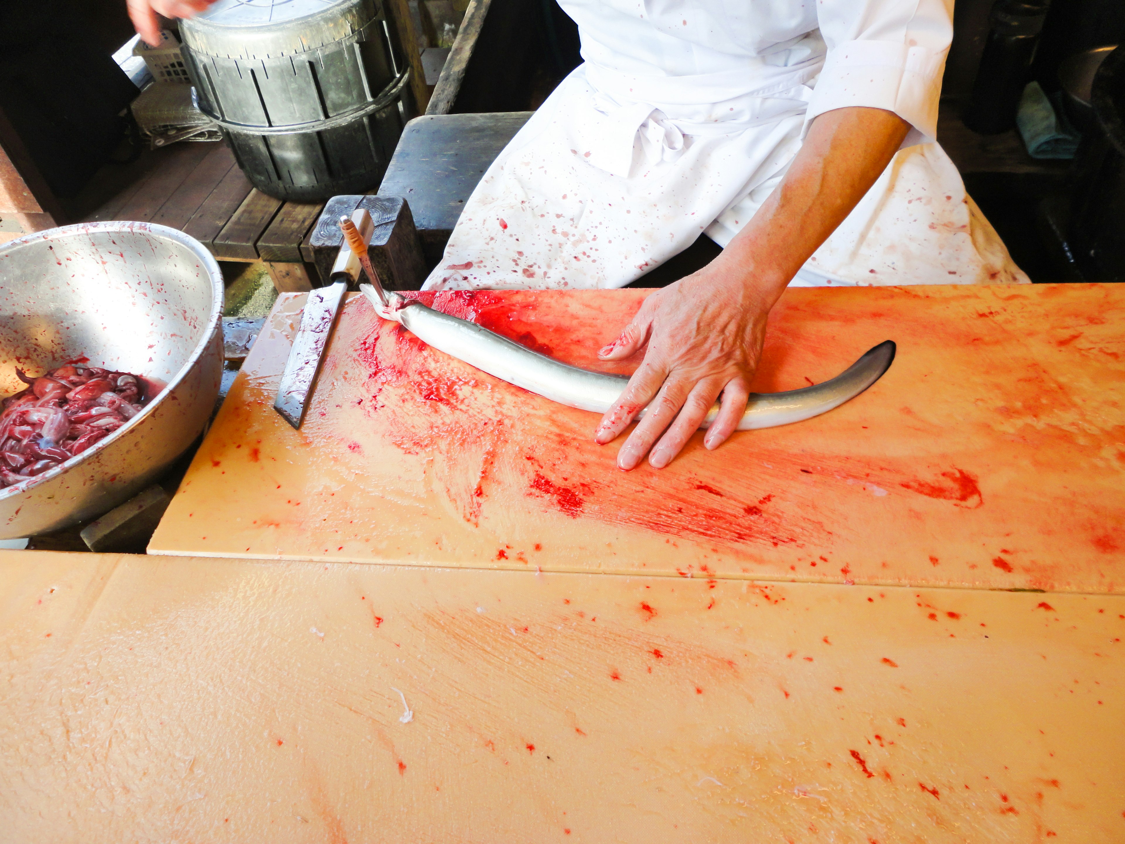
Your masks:
[{"label": "heap of dark red offal inside the metal bowl", "polygon": [[129,372],[68,363],[3,399],[0,487],[42,475],[86,451],[141,412],[141,380]]}]

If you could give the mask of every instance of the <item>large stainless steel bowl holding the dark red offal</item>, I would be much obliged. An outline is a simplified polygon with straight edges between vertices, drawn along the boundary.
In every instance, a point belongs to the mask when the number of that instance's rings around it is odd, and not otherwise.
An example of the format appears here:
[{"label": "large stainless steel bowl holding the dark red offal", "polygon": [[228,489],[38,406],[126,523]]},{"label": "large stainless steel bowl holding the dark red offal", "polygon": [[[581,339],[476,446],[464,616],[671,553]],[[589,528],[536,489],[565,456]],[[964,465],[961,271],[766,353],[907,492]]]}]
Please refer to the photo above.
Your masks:
[{"label": "large stainless steel bowl holding the dark red offal", "polygon": [[93,519],[151,484],[202,431],[223,370],[223,276],[182,232],[89,223],[0,244],[0,394],[86,356],[166,384],[142,413],[32,481],[0,490],[0,538]]}]

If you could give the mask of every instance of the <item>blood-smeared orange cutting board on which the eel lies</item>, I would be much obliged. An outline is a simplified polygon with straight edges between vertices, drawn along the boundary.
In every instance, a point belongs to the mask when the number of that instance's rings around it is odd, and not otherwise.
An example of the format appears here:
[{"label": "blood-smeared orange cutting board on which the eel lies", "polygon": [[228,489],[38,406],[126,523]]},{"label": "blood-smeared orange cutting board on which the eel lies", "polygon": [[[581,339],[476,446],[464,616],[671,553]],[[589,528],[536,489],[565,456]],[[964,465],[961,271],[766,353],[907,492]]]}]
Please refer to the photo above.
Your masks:
[{"label": "blood-smeared orange cutting board on which the eel lies", "polygon": [[[646,290],[426,295],[584,367]],[[353,297],[300,431],[272,410],[304,299],[279,299],[150,551],[534,571],[1117,592],[1125,289],[792,289],[755,388],[898,357],[822,416],[696,436],[670,466],[425,347]]]}]

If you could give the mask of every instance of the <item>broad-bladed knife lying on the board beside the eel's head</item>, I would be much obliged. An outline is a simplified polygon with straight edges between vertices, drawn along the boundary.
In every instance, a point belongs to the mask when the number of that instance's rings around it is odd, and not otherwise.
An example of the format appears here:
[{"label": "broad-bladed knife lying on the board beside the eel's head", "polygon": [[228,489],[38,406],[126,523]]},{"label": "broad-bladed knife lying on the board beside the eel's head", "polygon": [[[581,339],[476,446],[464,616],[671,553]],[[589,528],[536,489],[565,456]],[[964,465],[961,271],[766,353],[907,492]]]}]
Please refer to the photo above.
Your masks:
[{"label": "broad-bladed knife lying on the board beside the eel's head", "polygon": [[[366,208],[358,208],[352,214],[351,222],[364,239],[371,236],[374,225]],[[348,291],[349,282],[359,278],[359,260],[354,258],[346,241],[336,257],[330,278],[331,285],[318,287],[308,294],[300,315],[300,327],[294,338],[278,394],[273,399],[273,410],[297,430],[300,430],[305,411],[308,410],[308,399],[316,386],[316,376],[336,322],[340,303]]]}]

